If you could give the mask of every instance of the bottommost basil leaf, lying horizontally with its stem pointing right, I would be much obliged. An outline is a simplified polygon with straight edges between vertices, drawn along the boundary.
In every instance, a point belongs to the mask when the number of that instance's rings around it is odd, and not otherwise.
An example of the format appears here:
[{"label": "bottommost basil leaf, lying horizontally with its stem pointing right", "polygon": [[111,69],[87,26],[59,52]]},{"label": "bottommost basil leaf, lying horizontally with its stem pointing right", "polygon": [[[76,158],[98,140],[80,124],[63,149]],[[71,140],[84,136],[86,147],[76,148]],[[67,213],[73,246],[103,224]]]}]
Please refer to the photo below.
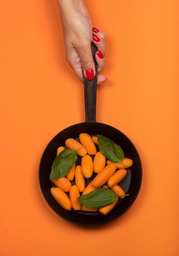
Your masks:
[{"label": "bottommost basil leaf, lying horizontally with its stem pointing right", "polygon": [[[120,195],[122,196],[122,195]],[[101,208],[112,204],[115,198],[118,198],[118,195],[106,188],[95,189],[88,194],[81,195],[77,200],[84,206],[90,208]]]}]

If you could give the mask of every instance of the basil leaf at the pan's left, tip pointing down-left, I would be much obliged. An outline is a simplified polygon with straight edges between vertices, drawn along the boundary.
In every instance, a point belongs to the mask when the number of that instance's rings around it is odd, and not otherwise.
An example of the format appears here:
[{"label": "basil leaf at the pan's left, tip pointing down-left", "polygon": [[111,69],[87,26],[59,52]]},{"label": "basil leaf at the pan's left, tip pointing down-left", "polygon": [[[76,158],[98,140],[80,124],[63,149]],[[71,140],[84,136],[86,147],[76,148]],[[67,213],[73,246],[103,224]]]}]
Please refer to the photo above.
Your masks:
[{"label": "basil leaf at the pan's left, tip pointing down-left", "polygon": [[57,155],[51,167],[50,180],[62,178],[70,171],[77,160],[77,150],[65,149]]}]

